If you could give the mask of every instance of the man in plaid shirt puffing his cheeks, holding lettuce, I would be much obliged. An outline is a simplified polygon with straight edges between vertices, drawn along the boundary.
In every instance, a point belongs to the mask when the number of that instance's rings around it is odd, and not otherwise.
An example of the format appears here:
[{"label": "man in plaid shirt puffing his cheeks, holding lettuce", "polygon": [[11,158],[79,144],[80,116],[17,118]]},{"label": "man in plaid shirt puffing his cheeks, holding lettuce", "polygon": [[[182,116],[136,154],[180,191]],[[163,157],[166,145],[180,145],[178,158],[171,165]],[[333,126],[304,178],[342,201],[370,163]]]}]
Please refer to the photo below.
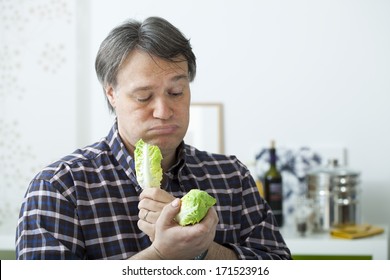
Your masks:
[{"label": "man in plaid shirt puffing his cheeks, holding lettuce", "polygon": [[[42,170],[20,211],[19,259],[290,259],[268,204],[234,156],[183,142],[190,82],[189,40],[164,19],[130,20],[100,46],[97,76],[116,121],[102,141]],[[135,143],[163,155],[160,189],[142,190]],[[174,221],[191,189],[217,199],[196,225]]]}]

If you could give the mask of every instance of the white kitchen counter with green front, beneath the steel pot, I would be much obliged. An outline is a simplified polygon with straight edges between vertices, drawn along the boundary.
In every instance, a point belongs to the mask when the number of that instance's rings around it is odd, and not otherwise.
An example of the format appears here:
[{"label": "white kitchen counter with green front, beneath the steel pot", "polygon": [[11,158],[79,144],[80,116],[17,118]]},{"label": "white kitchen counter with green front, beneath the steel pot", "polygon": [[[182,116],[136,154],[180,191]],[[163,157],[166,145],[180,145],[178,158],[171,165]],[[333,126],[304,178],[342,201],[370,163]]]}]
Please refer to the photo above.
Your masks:
[{"label": "white kitchen counter with green front, beneath the steel pot", "polygon": [[389,259],[388,228],[381,234],[359,239],[333,238],[330,233],[299,236],[292,228],[281,232],[294,259]]}]

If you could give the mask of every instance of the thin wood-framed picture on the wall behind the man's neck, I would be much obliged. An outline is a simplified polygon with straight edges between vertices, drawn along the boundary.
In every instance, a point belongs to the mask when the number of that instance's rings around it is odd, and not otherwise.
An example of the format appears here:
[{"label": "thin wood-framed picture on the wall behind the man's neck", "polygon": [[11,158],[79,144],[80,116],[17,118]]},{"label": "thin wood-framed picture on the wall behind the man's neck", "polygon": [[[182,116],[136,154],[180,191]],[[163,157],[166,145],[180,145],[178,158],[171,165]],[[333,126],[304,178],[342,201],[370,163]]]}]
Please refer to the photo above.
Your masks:
[{"label": "thin wood-framed picture on the wall behind the man's neck", "polygon": [[199,150],[223,154],[222,104],[192,103],[190,105],[190,125],[184,141]]}]

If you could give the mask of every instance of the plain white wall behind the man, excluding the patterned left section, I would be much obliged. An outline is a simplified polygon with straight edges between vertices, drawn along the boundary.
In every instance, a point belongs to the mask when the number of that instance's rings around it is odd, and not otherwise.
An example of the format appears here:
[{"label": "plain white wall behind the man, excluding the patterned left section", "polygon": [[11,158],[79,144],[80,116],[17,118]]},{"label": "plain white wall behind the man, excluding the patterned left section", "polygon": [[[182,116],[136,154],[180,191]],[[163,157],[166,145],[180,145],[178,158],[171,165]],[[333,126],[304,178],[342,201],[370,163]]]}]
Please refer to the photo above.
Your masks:
[{"label": "plain white wall behind the man, excluding the patterned left section", "polygon": [[[93,1],[90,59],[123,20],[167,18],[197,55],[193,101],[224,104],[226,153],[250,162],[271,138],[345,148],[363,220],[390,224],[389,14],[378,0]],[[92,140],[111,119],[90,79]]]}]

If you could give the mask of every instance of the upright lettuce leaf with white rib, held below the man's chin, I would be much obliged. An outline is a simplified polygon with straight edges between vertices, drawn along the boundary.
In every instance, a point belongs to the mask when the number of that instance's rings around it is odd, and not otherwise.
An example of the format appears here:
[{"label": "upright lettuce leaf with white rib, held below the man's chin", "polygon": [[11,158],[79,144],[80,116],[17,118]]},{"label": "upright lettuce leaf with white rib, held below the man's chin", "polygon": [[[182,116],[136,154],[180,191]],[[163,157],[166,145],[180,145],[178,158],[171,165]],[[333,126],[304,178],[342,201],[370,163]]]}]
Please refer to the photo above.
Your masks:
[{"label": "upright lettuce leaf with white rib, held below the man's chin", "polygon": [[163,176],[162,158],[158,146],[145,143],[142,139],[135,144],[135,172],[137,181],[143,189],[160,188]]}]

